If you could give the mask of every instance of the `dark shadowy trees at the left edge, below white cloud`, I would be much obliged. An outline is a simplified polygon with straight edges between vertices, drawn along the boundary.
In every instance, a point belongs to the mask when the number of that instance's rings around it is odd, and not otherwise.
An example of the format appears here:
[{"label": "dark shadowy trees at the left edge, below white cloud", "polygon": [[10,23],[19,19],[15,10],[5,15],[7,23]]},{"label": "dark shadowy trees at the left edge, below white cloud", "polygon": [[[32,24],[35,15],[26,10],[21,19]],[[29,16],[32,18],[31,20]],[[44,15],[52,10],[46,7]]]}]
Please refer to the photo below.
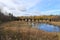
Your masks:
[{"label": "dark shadowy trees at the left edge, below white cloud", "polygon": [[0,22],[14,21],[18,19],[18,17],[13,16],[11,13],[9,13],[9,15],[4,15],[4,13],[0,11]]}]

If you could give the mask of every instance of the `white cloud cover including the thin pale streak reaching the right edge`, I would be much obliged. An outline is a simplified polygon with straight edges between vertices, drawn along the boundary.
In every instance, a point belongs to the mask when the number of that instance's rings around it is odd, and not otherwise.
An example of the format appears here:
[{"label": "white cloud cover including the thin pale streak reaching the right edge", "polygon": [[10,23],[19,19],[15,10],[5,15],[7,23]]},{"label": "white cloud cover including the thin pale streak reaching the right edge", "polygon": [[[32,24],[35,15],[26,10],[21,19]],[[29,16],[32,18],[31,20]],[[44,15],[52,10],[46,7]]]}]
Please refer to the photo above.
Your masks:
[{"label": "white cloud cover including the thin pale streak reaching the right edge", "polygon": [[36,8],[33,8],[32,11],[27,11],[41,1],[42,0],[0,0],[0,8],[4,13],[11,12],[15,16],[60,14],[60,10],[38,11]]}]

